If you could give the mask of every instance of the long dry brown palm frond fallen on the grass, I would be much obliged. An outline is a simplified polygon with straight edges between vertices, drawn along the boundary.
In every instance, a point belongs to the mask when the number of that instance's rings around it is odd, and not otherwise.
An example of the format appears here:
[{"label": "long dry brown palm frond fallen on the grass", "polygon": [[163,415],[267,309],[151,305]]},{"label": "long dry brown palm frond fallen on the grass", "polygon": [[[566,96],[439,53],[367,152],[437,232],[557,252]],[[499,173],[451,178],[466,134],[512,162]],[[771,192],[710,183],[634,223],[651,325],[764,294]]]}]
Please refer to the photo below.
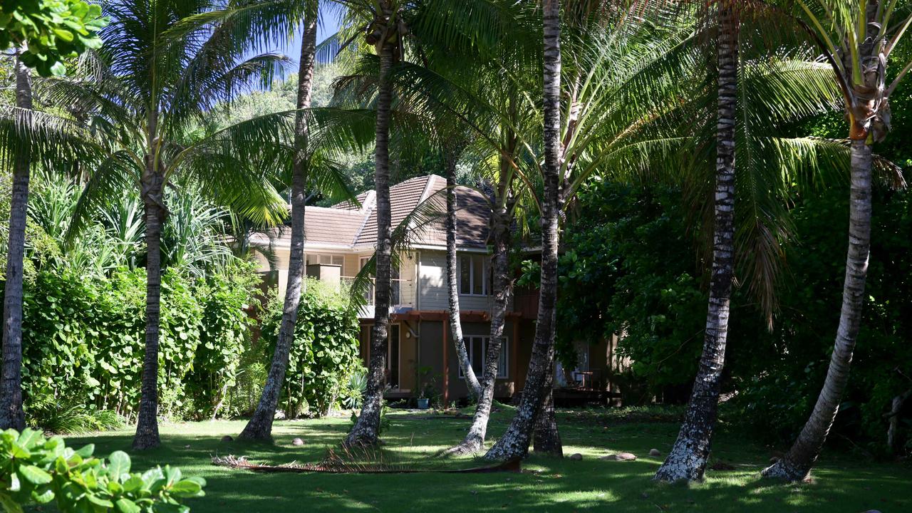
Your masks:
[{"label": "long dry brown palm frond fallen on the grass", "polygon": [[383,452],[372,447],[327,449],[326,457],[320,463],[285,463],[282,465],[263,465],[248,460],[245,456],[212,456],[212,465],[239,468],[254,472],[305,473],[326,472],[330,474],[487,474],[492,472],[522,472],[520,460],[510,459],[492,466],[472,468],[428,468],[419,469],[408,464],[390,461]]}]

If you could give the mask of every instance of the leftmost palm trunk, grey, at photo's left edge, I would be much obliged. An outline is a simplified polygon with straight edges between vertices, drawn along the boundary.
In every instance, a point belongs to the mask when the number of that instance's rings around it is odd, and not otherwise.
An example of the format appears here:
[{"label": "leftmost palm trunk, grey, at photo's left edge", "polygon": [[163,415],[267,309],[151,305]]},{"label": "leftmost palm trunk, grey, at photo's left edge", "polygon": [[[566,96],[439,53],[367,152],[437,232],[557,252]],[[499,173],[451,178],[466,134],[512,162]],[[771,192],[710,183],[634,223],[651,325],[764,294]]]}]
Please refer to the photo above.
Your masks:
[{"label": "leftmost palm trunk, grey, at photo's left edge", "polygon": [[[32,110],[31,70],[16,54],[16,107]],[[13,196],[9,210],[9,249],[4,288],[3,368],[0,383],[0,429],[22,430],[22,281],[26,257],[26,216],[31,167],[30,141],[22,141],[13,163]]]}]

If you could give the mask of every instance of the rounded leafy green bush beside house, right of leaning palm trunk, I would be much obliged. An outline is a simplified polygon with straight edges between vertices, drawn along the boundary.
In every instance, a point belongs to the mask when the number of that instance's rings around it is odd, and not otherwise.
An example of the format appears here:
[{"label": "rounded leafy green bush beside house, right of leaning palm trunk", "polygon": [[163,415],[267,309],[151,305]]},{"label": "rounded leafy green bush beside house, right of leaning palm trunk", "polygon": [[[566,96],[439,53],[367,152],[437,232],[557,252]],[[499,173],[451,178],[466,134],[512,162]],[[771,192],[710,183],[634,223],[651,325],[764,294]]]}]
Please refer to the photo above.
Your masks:
[{"label": "rounded leafy green bush beside house, right of leaning palm trunk", "polygon": [[[295,343],[285,373],[285,413],[326,414],[361,369],[358,315],[337,287],[306,279],[297,312]],[[272,361],[282,322],[282,301],[272,298],[263,319],[264,361]]]}]

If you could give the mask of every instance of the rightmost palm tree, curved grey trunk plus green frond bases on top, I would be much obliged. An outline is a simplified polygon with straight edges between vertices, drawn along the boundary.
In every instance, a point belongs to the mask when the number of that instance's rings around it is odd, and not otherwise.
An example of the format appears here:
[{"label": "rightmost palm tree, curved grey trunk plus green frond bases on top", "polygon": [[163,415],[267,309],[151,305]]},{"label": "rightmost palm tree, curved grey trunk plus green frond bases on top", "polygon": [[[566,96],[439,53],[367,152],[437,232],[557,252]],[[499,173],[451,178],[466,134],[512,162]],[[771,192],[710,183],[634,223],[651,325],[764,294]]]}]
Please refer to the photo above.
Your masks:
[{"label": "rightmost palm tree, curved grey trunk plus green frond bases on top", "polygon": [[[912,25],[912,14],[894,24],[894,16],[909,10],[909,2],[798,0],[800,18],[833,68],[843,93],[851,140],[849,243],[845,260],[843,304],[833,354],[814,412],[789,452],[763,470],[763,476],[789,481],[804,479],[833,425],[845,383],[865,301],[865,278],[871,242],[871,146],[889,131],[889,97],[912,69],[912,61],[887,85],[891,51]],[[905,14],[905,13],[904,13]]]}]

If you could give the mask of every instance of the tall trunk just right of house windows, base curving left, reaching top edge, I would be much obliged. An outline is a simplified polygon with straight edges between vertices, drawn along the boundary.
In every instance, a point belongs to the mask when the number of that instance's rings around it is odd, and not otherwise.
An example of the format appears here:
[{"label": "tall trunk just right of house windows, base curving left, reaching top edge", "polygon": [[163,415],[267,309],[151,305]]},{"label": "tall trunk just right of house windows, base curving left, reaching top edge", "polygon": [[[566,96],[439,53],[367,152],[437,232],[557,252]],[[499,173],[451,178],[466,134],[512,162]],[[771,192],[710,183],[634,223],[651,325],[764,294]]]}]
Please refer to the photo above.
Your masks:
[{"label": "tall trunk just right of house windows, base curving left, reaching top edge", "polygon": [[560,0],[544,0],[544,195],[542,198],[542,281],[538,322],[523,399],[513,422],[484,457],[523,457],[547,395],[548,367],[554,364],[554,322],[557,304],[558,199],[560,196]]}]

